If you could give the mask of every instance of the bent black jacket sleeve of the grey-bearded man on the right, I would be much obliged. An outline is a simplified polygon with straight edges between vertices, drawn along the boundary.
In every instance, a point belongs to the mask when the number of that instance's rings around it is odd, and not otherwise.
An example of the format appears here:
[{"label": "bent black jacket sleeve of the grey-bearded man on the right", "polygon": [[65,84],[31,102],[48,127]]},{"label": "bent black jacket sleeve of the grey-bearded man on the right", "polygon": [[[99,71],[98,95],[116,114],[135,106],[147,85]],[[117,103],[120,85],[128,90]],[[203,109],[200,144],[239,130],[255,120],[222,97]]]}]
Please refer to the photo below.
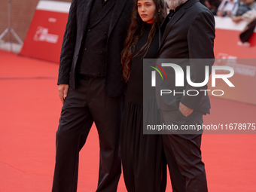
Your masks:
[{"label": "bent black jacket sleeve of the grey-bearded man on the right", "polygon": [[[213,44],[215,39],[215,19],[209,11],[203,11],[197,14],[190,25],[187,33],[187,44],[190,56],[190,80],[194,83],[201,83],[205,80],[205,66],[209,66],[209,75],[211,74],[214,63]],[[207,90],[207,85],[203,87],[192,87],[187,84],[187,90],[198,90],[197,96],[187,96],[181,98],[181,103],[188,108],[197,109]],[[191,93],[194,94],[194,93]]]}]

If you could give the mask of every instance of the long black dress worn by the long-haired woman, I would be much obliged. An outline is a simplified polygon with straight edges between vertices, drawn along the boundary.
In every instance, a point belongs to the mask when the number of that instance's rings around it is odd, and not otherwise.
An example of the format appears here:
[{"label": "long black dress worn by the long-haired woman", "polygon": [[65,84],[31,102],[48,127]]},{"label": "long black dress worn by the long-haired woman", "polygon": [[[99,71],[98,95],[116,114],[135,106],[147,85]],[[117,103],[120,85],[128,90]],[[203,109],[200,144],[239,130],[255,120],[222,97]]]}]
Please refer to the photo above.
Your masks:
[{"label": "long black dress worn by the long-haired woman", "polygon": [[[135,46],[135,52],[148,41],[151,24]],[[158,30],[144,58],[157,58]],[[143,135],[143,55],[133,58],[130,81],[126,93],[121,124],[121,157],[123,178],[128,192],[165,191],[166,174],[163,174],[163,144],[161,135]],[[166,167],[166,166],[165,166]],[[166,169],[166,168],[165,168]]]}]

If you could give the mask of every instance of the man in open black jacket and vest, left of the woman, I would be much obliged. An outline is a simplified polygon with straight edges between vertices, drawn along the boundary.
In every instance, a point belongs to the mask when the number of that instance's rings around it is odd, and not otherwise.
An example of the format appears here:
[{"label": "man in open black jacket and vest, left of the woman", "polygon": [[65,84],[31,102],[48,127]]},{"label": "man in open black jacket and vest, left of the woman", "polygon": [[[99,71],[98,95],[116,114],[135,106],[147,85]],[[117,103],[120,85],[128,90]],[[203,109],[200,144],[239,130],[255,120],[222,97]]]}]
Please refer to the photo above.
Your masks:
[{"label": "man in open black jacket and vest, left of the woman", "polygon": [[77,190],[79,151],[93,122],[100,145],[96,191],[117,190],[126,90],[120,52],[132,8],[132,0],[72,0],[59,62],[63,106],[56,132],[53,192]]}]

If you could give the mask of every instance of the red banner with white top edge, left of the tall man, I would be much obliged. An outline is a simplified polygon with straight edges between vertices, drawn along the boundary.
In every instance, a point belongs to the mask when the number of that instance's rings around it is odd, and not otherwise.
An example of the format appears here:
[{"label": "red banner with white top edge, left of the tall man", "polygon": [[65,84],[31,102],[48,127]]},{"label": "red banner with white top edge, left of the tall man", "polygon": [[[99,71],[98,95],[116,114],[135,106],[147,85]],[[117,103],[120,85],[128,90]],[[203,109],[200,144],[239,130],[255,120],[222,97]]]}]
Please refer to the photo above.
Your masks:
[{"label": "red banner with white top edge, left of the tall man", "polygon": [[59,62],[69,8],[69,2],[38,2],[20,55]]}]

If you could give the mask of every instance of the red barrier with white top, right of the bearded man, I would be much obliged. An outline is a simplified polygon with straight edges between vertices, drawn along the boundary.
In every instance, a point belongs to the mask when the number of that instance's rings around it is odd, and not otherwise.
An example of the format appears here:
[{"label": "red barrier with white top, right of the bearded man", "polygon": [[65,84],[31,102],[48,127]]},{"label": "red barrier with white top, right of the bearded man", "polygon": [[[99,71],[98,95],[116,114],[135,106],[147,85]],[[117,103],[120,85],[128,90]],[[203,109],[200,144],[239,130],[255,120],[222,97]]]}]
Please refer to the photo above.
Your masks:
[{"label": "red barrier with white top, right of the bearded man", "polygon": [[[255,30],[248,42],[242,43],[239,34],[247,26],[247,22],[234,23],[230,17],[215,17],[215,58],[227,59],[216,60],[215,66],[230,66],[234,69],[234,75],[229,80],[235,87],[229,87],[223,80],[216,81],[216,87],[211,87],[209,79],[209,90],[223,90],[224,99],[245,102],[256,105],[256,34]],[[218,74],[227,72],[218,70]],[[209,92],[211,96],[212,93]]]}]

